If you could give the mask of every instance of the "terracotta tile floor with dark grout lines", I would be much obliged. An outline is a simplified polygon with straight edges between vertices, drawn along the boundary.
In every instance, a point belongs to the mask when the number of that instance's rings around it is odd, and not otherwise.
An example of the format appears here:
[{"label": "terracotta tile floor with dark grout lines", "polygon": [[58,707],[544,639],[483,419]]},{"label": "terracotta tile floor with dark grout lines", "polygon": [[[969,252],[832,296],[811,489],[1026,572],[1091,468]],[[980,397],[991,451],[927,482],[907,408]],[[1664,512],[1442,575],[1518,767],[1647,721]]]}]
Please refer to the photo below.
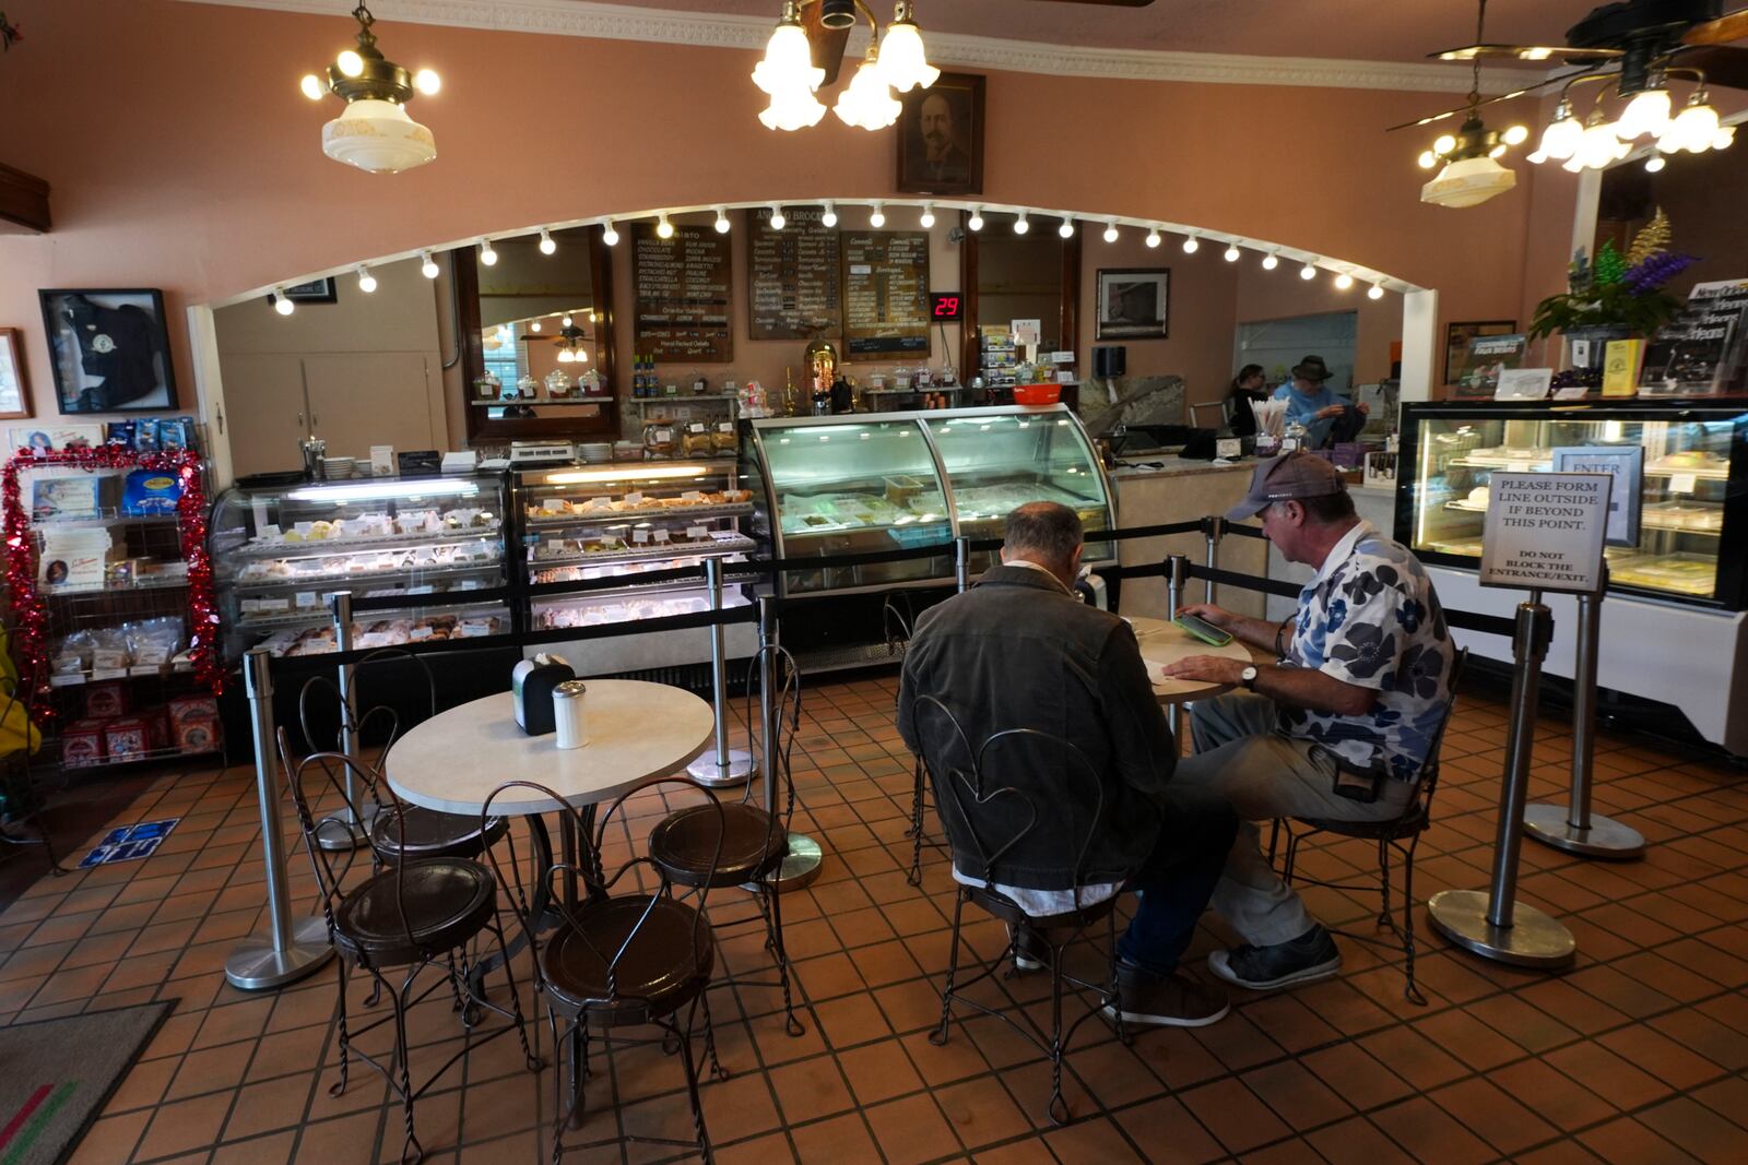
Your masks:
[{"label": "terracotta tile floor with dark grout lines", "polygon": [[[1070,1057],[1077,1120],[1052,1130],[1042,1118],[1047,1071],[1005,1027],[974,1020],[946,1048],[925,1039],[951,898],[935,851],[923,889],[904,882],[911,763],[891,727],[893,686],[874,678],[808,693],[797,828],[823,840],[827,866],[783,905],[808,1031],[781,1032],[771,989],[717,992],[722,1060],[734,1072],[704,1088],[720,1160],[1748,1160],[1741,774],[1603,741],[1596,809],[1640,828],[1648,856],[1599,865],[1535,844],[1523,851],[1523,901],[1573,929],[1571,971],[1456,954],[1418,919],[1428,1008],[1404,1003],[1400,952],[1346,941],[1341,978],[1241,999],[1204,1031],[1145,1032],[1124,1048],[1087,1024]],[[1419,851],[1421,896],[1484,886],[1503,741],[1500,702],[1465,697]],[[1535,749],[1535,800],[1563,798],[1568,753],[1566,728],[1550,720]],[[348,1092],[329,1097],[332,1067],[316,1071],[336,1062],[330,971],[260,996],[224,982],[225,954],[262,922],[253,798],[241,769],[163,777],[117,817],[182,816],[161,852],[42,879],[0,913],[0,1022],[178,1001],[80,1146],[80,1165],[348,1165],[399,1151],[400,1111],[379,1078],[355,1071]],[[640,807],[633,824],[657,809]],[[1346,875],[1367,859],[1363,844],[1337,842],[1309,849],[1302,868]],[[301,852],[292,868],[308,908]],[[1332,891],[1311,900],[1330,922],[1365,926],[1372,910]],[[729,913],[725,901],[718,910]],[[968,934],[982,948],[1002,941],[986,920]],[[1197,966],[1218,941],[1210,922]],[[722,950],[731,968],[764,966],[750,933]],[[1045,985],[1024,976],[991,992],[991,1003],[1038,1015]],[[544,1025],[535,1031],[551,1055]],[[414,1011],[413,1032],[418,1069],[449,1055],[458,1024],[434,1003]],[[428,1160],[545,1160],[549,1074],[521,1071],[507,1039],[451,1069],[420,1102]],[[689,1128],[676,1060],[652,1048],[614,1051],[587,1100],[587,1141]],[[664,1155],[631,1146],[622,1156],[614,1142],[568,1160]]]}]

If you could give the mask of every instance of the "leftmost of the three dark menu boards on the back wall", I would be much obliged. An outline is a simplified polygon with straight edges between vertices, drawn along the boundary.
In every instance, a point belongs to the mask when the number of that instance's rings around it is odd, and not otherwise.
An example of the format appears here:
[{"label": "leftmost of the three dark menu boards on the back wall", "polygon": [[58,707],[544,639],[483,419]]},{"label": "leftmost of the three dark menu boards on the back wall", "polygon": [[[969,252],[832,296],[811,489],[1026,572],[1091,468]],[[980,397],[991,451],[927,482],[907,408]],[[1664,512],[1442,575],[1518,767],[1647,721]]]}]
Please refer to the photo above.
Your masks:
[{"label": "leftmost of the three dark menu boards on the back wall", "polygon": [[671,239],[640,222],[631,234],[633,349],[656,360],[729,363],[729,239],[713,227],[675,227]]}]

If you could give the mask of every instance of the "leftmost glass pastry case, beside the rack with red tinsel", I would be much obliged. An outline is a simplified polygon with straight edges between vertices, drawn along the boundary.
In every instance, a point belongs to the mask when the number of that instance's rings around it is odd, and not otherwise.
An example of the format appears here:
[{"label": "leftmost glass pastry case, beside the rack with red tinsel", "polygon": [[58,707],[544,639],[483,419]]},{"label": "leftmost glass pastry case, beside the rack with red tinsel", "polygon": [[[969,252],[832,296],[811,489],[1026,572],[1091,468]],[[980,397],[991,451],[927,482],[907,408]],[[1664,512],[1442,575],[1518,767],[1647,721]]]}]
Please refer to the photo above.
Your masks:
[{"label": "leftmost glass pastry case, beside the rack with red tinsel", "polygon": [[329,596],[372,603],[357,648],[510,631],[502,475],[232,487],[210,524],[225,653],[334,650]]}]

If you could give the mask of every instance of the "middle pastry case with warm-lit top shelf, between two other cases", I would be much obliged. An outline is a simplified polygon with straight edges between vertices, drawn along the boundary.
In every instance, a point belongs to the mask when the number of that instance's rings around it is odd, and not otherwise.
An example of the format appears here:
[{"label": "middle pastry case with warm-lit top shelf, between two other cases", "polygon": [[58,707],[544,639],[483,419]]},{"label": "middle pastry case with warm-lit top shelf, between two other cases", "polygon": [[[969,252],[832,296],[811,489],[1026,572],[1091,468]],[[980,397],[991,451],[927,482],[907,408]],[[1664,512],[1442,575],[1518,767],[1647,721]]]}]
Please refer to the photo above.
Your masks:
[{"label": "middle pastry case with warm-lit top shelf, between two other cases", "polygon": [[[697,580],[640,583],[640,575],[741,562],[755,541],[741,531],[753,512],[734,465],[680,461],[586,465],[516,477],[517,569],[528,587],[530,631],[593,627],[710,610]],[[622,580],[566,594],[566,583]],[[724,604],[739,606],[739,589]]]}]

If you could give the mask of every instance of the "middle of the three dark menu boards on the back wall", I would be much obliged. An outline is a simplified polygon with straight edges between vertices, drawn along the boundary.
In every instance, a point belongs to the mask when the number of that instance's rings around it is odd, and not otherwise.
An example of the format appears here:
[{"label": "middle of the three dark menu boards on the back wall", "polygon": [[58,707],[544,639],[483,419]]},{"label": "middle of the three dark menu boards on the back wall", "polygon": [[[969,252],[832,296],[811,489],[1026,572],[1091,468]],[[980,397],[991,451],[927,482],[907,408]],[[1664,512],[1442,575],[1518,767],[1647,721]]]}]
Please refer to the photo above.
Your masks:
[{"label": "middle of the three dark menu boards on the back wall", "polygon": [[820,222],[822,206],[785,210],[788,225],[773,231],[764,215],[748,215],[748,335],[755,341],[806,341],[843,335],[837,227]]}]

